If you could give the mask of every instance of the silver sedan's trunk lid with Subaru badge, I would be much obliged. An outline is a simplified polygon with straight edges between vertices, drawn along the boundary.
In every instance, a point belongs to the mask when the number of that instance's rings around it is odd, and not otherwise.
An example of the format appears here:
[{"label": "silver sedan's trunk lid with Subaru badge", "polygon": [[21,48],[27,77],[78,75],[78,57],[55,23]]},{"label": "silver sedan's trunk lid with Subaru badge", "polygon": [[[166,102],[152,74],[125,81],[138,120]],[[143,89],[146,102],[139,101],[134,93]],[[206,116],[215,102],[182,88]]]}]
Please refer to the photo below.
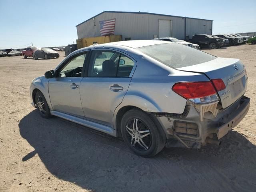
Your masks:
[{"label": "silver sedan's trunk lid with Subaru badge", "polygon": [[247,88],[246,70],[239,59],[218,57],[209,62],[178,68],[178,70],[203,73],[210,80],[222,79],[226,88],[219,91],[218,95],[223,108],[238,100]]}]

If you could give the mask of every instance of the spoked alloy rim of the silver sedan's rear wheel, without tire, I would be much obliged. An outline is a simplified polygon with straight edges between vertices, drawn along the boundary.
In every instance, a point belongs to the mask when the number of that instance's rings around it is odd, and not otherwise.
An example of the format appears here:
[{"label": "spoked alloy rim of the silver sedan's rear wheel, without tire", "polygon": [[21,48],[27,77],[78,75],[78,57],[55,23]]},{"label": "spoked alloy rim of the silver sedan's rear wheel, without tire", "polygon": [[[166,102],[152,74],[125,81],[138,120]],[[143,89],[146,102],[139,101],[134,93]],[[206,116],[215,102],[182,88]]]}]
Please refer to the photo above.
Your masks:
[{"label": "spoked alloy rim of the silver sedan's rear wheel, without tire", "polygon": [[137,118],[128,121],[125,127],[126,136],[131,140],[131,145],[140,151],[146,151],[152,144],[150,130]]}]

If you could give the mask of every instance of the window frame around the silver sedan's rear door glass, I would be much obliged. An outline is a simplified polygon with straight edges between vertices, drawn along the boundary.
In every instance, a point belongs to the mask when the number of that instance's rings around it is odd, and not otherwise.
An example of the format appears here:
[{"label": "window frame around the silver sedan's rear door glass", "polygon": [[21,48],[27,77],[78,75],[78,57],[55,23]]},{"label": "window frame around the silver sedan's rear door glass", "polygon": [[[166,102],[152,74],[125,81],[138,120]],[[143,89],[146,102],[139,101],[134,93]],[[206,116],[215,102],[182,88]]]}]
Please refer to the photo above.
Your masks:
[{"label": "window frame around the silver sedan's rear door glass", "polygon": [[[124,56],[126,56],[126,57],[128,57],[129,59],[131,59],[133,62],[134,62],[134,66],[133,66],[133,68],[132,68],[132,70],[131,70],[131,72],[130,72],[130,75],[128,76],[128,77],[88,77],[88,71],[89,71],[89,68],[90,68],[90,66],[91,66],[91,56],[92,56],[92,52],[93,51],[98,51],[98,50],[101,50],[101,51],[113,51],[113,52],[117,52],[118,54],[123,54]],[[87,62],[89,62],[89,64],[87,65],[87,68],[86,68],[86,73],[84,74],[84,78],[132,78],[132,76],[133,76],[133,74],[134,74],[134,71],[135,71],[135,69],[136,69],[136,67],[137,67],[137,61],[132,57],[132,56],[130,56],[130,55],[128,55],[127,53],[124,53],[124,52],[122,52],[122,51],[120,51],[120,50],[116,50],[116,49],[112,49],[112,48],[95,48],[95,49],[92,49],[92,50],[90,50],[90,54],[89,54],[89,57],[88,57],[88,61]],[[118,61],[119,62],[119,61]]]}]

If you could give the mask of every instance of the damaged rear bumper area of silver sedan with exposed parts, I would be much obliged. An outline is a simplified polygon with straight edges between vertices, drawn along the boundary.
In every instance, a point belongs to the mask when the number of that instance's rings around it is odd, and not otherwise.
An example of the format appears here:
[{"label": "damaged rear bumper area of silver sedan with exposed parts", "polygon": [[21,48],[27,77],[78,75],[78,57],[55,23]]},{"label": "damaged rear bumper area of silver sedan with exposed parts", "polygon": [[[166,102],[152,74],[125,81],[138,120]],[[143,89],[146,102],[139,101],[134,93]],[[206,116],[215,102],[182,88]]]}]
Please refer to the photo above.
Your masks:
[{"label": "damaged rear bumper area of silver sedan with exposed parts", "polygon": [[[198,112],[198,107],[188,103],[186,113],[155,114],[167,136],[167,147],[200,148],[211,138],[222,138],[247,114],[250,98],[242,96],[228,108]],[[203,118],[202,118],[203,115]],[[208,138],[208,139],[206,139]]]}]

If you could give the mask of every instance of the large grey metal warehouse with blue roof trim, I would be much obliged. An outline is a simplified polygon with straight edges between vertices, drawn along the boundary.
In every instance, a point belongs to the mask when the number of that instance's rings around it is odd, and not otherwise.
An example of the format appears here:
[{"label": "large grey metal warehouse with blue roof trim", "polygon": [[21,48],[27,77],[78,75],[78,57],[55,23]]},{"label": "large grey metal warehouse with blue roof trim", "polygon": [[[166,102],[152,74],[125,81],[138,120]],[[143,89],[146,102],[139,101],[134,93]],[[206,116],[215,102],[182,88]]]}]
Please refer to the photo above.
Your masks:
[{"label": "large grey metal warehouse with blue roof trim", "polygon": [[99,22],[114,18],[114,34],[122,35],[122,40],[191,39],[195,34],[212,34],[212,20],[147,12],[104,11],[76,26],[78,39],[100,36]]}]

